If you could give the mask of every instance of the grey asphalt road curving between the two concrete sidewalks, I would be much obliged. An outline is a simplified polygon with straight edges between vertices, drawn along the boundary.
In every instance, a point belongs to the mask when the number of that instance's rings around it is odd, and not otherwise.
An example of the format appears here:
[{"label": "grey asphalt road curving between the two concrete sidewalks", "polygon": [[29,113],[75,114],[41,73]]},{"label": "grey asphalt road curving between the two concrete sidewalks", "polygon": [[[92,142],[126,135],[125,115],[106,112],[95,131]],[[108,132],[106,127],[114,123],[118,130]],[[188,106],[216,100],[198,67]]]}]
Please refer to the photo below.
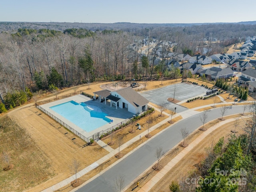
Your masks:
[{"label": "grey asphalt road curving between the two concrete sidewalks", "polygon": [[[243,106],[231,106],[228,108],[224,116],[241,112],[243,112]],[[182,136],[180,134],[181,128],[186,127],[189,132],[193,132],[196,128],[202,126],[200,114],[191,116],[170,126],[166,131],[162,132],[155,138],[152,138],[149,142],[124,158],[118,164],[76,191],[116,191],[116,178],[120,176],[124,176],[123,188],[125,188],[157,160],[155,152],[158,147],[162,147],[163,150],[167,152],[182,140]],[[219,117],[221,117],[221,108],[212,109],[208,112],[207,121],[211,121]]]}]

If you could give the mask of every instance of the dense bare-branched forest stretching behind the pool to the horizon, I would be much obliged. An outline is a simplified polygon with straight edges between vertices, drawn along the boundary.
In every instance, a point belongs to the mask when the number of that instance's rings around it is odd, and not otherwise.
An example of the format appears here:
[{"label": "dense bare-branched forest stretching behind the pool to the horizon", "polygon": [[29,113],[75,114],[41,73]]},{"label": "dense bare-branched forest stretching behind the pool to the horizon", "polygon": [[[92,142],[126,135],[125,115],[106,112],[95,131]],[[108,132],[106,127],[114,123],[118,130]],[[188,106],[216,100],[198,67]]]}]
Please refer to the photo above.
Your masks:
[{"label": "dense bare-branched forest stretching behind the pool to the horizon", "polygon": [[118,23],[114,29],[113,25],[86,29],[67,28],[68,23],[1,22],[1,99],[21,97],[10,108],[40,90],[103,80],[175,78],[176,69],[173,76],[164,68],[171,52],[225,53],[227,46],[254,36],[256,29],[253,24]]}]

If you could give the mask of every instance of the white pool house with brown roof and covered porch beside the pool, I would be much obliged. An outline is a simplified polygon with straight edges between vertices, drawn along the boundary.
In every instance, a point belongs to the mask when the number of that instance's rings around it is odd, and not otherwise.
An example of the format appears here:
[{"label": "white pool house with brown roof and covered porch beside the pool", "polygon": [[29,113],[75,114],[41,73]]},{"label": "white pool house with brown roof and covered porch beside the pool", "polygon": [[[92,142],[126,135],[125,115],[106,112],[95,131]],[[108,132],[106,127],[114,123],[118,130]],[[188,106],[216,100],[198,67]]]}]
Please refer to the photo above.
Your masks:
[{"label": "white pool house with brown roof and covered porch beside the pool", "polygon": [[148,109],[148,100],[141,96],[131,87],[122,88],[116,91],[101,90],[94,92],[94,98],[99,96],[100,102],[110,102],[110,107],[116,106],[116,109],[127,109],[133,114],[140,114]]}]

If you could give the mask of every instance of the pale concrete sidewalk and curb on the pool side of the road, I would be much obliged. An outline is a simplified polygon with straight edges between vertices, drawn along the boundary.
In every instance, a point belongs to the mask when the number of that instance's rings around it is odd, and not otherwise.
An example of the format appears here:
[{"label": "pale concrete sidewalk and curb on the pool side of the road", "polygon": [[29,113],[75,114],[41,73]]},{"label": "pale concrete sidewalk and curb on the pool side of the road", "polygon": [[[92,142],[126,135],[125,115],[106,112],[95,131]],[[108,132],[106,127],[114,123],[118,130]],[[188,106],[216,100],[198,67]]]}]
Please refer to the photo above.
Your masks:
[{"label": "pale concrete sidewalk and curb on the pool side of the road", "polygon": [[[186,102],[186,101],[182,101],[182,102]],[[182,103],[180,102],[180,103]],[[229,102],[229,103],[234,103],[234,102]],[[223,104],[223,103],[218,103],[218,104]],[[212,104],[210,105],[207,105],[207,106],[212,106]],[[196,108],[193,108],[193,109],[188,109],[186,111],[183,111],[181,113],[177,113],[177,114],[174,114],[172,117],[170,116],[170,114],[167,114],[165,112],[163,112],[163,114],[166,114],[168,115],[169,117],[166,118],[165,120],[159,122],[158,124],[152,126],[150,128],[150,132],[155,130],[156,128],[158,128],[159,126],[165,124],[166,122],[168,122],[169,120],[171,120],[171,118],[175,118],[177,116],[182,116],[182,120],[184,120],[185,118],[188,118],[190,116],[193,116],[195,114],[198,114],[200,112],[198,111],[195,111],[196,109],[199,109],[199,108],[205,108],[207,106],[200,106],[200,107],[196,107]],[[158,110],[157,108],[155,108],[156,110]],[[180,121],[180,120],[179,120]],[[178,121],[178,122],[179,122]],[[176,122],[177,123],[177,122]],[[169,127],[167,127],[169,128]],[[167,129],[166,128],[166,129]],[[164,130],[166,130],[164,129]],[[158,134],[162,133],[164,130],[162,130],[161,132],[159,132]],[[124,148],[130,146],[131,144],[133,144],[134,142],[136,142],[137,140],[140,140],[141,137],[145,136],[146,134],[148,134],[148,130],[145,130],[143,131],[141,134],[135,136],[134,138],[132,138],[131,140],[129,140],[128,142],[124,143],[121,147],[120,147],[120,151],[123,150]],[[156,135],[158,135],[156,134]],[[156,136],[154,135],[154,136]],[[154,136],[152,138],[154,138]],[[148,141],[148,140],[147,140]],[[117,149],[113,149],[111,148],[110,146],[108,146],[107,144],[105,144],[104,142],[102,142],[101,140],[96,140],[96,142],[102,146],[104,149],[106,149],[109,154],[105,155],[104,157],[100,158],[99,160],[97,160],[96,162],[94,162],[93,164],[89,165],[88,167],[84,168],[83,170],[81,170],[80,172],[77,173],[77,175],[72,175],[70,176],[69,178],[66,178],[65,180],[49,187],[49,188],[46,188],[44,190],[42,190],[42,192],[54,192],[68,184],[70,184],[70,182],[72,182],[73,180],[75,180],[76,176],[77,178],[80,178],[81,176],[83,176],[84,174],[88,173],[89,171],[93,170],[94,168],[98,167],[100,164],[102,164],[103,162],[105,162],[106,160],[112,158],[115,156],[115,154],[118,153],[118,148]],[[91,180],[93,180],[94,178],[96,178],[97,176],[99,176],[100,174],[102,174],[103,172],[106,172],[106,170],[108,170],[109,168],[111,168],[112,166],[114,166],[115,164],[117,164],[118,162],[120,162],[121,160],[123,160],[124,158],[126,158],[126,156],[128,156],[129,154],[131,154],[132,152],[134,152],[135,150],[137,150],[138,148],[140,148],[141,146],[143,146],[144,144],[146,144],[146,142],[143,142],[142,144],[140,144],[140,146],[138,146],[137,148],[135,148],[134,150],[132,150],[131,152],[129,152],[128,154],[126,154],[124,157],[120,158],[118,161],[116,161],[114,164],[112,164],[111,166],[109,166],[108,168],[106,168],[105,170],[103,170],[102,172],[100,172],[99,174],[97,174],[96,176],[94,176],[93,178],[91,178],[90,180],[86,181],[83,185],[85,185],[86,183],[90,182]],[[188,149],[188,148],[187,148]],[[74,189],[72,191],[76,191],[77,189]]]}]

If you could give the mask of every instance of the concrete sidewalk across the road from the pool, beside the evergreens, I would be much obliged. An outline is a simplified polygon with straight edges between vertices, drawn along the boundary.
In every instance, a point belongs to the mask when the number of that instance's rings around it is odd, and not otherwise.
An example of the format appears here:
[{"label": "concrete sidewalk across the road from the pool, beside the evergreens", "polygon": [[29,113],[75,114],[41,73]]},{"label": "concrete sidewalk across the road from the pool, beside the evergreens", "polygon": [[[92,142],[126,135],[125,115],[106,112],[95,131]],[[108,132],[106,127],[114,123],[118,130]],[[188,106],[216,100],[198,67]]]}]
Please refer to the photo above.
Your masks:
[{"label": "concrete sidewalk across the road from the pool, beside the evergreens", "polygon": [[[193,150],[194,147],[196,147],[208,134],[219,128],[220,126],[232,122],[236,120],[236,118],[228,119],[225,121],[221,121],[211,128],[207,129],[205,132],[200,134],[194,141],[192,141],[184,150],[182,150],[178,155],[176,155],[166,166],[164,166],[155,176],[153,176],[138,192],[148,192],[150,191],[154,185],[160,181],[168,171],[170,171],[182,158],[188,154],[191,150]],[[126,187],[127,189],[128,187]],[[125,191],[125,190],[124,190]]]}]

